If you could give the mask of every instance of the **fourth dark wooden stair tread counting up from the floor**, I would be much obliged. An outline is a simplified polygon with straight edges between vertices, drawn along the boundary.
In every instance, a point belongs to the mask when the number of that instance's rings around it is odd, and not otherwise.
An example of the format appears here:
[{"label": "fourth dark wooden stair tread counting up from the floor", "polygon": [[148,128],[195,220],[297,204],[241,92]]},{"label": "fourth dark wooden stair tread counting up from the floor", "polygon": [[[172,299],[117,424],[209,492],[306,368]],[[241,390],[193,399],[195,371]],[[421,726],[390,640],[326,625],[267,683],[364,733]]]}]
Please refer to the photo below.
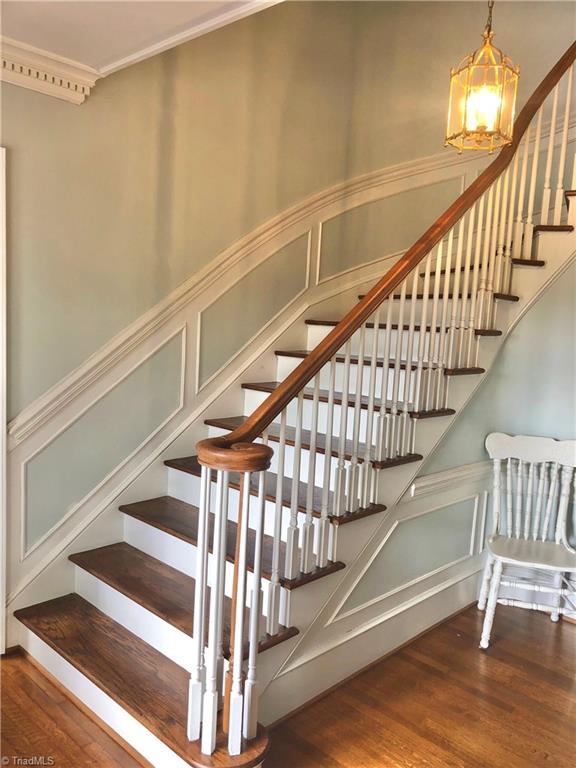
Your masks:
[{"label": "fourth dark wooden stair tread counting up from the floor", "polygon": [[[195,475],[196,477],[200,477],[202,467],[200,465],[200,462],[198,461],[197,456],[185,456],[180,459],[168,459],[164,462],[166,466],[172,467],[173,469],[179,469],[182,472],[188,472],[190,475]],[[215,475],[213,476],[213,479],[215,479]],[[240,489],[240,474],[238,472],[230,472],[229,473],[229,484],[231,488],[235,488],[236,490]],[[276,485],[277,485],[277,475],[274,472],[266,472],[264,475],[264,493],[266,496],[267,501],[276,501]],[[250,477],[250,495],[251,496],[258,496],[258,473],[252,473]],[[299,512],[306,512],[306,497],[308,495],[308,483],[303,482],[302,480],[298,484],[298,511]],[[290,502],[292,498],[292,478],[291,477],[283,477],[282,478],[282,504],[285,507],[290,507]],[[332,505],[334,503],[334,494],[332,491],[329,491],[328,493],[328,509],[332,508]],[[312,494],[312,514],[314,517],[320,517],[321,516],[321,509],[322,509],[322,488],[318,488],[317,486],[314,487],[314,492]],[[383,504],[371,504],[366,509],[358,510],[354,513],[348,513],[347,514],[347,522],[351,521],[355,517],[366,517],[368,514],[376,515],[379,512],[384,512],[386,507]],[[333,521],[336,525],[339,524],[339,521],[342,520],[342,517],[336,517],[334,515],[328,515],[331,521]]]}]

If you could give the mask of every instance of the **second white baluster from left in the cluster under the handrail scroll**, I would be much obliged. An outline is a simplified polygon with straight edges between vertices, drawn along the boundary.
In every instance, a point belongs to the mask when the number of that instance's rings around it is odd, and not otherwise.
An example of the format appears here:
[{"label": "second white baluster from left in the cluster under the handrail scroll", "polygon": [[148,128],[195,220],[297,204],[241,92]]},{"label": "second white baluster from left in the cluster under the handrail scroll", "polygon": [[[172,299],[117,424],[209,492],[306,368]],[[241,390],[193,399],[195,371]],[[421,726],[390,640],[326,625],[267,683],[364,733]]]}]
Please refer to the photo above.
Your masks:
[{"label": "second white baluster from left in the cluster under the handrail scroll", "polygon": [[208,647],[206,649],[206,686],[202,704],[201,750],[211,755],[216,748],[218,719],[219,656],[222,643],[222,600],[224,594],[224,568],[226,563],[226,523],[228,518],[228,472],[218,471],[216,485],[216,510],[214,520],[214,542],[212,547],[213,567],[210,589],[210,614],[208,622]]}]

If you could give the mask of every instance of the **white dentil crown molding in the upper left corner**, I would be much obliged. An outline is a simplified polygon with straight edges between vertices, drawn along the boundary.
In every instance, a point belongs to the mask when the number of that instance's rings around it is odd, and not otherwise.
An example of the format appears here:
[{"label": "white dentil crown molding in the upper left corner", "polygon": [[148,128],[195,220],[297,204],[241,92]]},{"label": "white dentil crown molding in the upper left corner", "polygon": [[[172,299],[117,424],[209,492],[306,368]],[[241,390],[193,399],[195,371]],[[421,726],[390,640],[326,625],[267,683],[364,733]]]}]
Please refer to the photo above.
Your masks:
[{"label": "white dentil crown molding in the upper left corner", "polygon": [[1,80],[72,104],[82,104],[102,77],[85,64],[9,37],[0,38],[0,48]]}]

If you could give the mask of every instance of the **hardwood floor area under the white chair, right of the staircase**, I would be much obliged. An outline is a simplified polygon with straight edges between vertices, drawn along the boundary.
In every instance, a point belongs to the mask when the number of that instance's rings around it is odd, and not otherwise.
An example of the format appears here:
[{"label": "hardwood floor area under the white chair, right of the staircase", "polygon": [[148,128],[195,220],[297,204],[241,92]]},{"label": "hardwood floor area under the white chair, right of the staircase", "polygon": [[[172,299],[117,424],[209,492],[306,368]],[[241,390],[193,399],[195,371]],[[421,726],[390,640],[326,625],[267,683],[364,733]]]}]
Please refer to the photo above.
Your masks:
[{"label": "hardwood floor area under the white chair, right of the staircase", "polygon": [[573,768],[576,626],[469,608],[272,731],[266,768]]}]

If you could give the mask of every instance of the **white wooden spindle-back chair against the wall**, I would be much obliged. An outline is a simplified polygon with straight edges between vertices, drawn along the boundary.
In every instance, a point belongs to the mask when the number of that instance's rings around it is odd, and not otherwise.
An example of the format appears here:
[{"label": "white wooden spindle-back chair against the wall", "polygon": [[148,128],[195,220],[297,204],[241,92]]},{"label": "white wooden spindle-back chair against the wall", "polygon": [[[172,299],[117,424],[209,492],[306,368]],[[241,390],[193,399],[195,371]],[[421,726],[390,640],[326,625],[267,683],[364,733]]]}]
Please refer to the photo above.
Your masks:
[{"label": "white wooden spindle-back chair against the wall", "polygon": [[[568,510],[576,496],[576,440],[493,432],[486,450],[494,464],[493,532],[478,608],[486,610],[480,648],[488,648],[496,603],[548,611],[552,621],[575,610],[576,550],[568,542]],[[504,477],[504,482],[502,478]],[[537,569],[547,580],[503,578],[504,566]],[[551,604],[499,599],[501,587],[553,595]]]}]

